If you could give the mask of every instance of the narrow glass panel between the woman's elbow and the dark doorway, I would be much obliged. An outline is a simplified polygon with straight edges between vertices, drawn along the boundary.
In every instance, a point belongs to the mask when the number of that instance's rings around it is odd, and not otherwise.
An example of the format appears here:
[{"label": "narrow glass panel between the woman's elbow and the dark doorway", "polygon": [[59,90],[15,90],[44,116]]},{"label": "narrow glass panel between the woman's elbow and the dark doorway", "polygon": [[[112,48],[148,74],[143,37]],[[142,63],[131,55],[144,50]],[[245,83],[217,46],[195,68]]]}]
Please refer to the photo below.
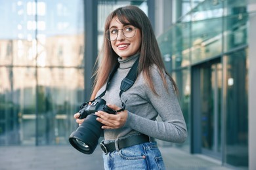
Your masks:
[{"label": "narrow glass panel between the woman's elbow and the dark doorway", "polygon": [[179,71],[173,72],[173,79],[177,83],[179,88],[179,103],[181,105],[181,110],[186,122],[186,127],[188,129],[188,139],[183,144],[176,144],[177,146],[181,147],[182,149],[189,152],[190,150],[190,69],[182,69]]}]

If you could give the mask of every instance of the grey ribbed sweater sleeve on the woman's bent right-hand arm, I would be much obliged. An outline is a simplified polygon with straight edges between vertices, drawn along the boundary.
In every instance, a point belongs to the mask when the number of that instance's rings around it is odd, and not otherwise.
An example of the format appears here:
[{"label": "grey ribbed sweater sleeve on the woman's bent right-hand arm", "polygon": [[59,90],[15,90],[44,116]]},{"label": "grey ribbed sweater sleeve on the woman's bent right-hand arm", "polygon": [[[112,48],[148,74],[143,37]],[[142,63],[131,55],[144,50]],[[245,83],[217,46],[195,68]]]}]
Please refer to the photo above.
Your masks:
[{"label": "grey ribbed sweater sleeve on the woman's bent right-hand arm", "polygon": [[152,68],[152,81],[158,95],[146,86],[146,97],[154,107],[162,121],[150,120],[128,111],[125,126],[156,139],[173,143],[183,143],[187,137],[186,124],[179,105],[173,83],[165,76],[168,90],[163,86],[163,80],[156,68]]}]

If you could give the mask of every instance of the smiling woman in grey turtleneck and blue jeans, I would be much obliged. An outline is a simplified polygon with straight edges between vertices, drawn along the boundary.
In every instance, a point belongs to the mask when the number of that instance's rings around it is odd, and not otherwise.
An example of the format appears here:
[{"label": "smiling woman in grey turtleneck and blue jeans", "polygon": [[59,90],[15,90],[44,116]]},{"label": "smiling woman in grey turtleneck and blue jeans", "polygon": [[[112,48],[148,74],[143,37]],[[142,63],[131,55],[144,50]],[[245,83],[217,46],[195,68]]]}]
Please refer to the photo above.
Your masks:
[{"label": "smiling woman in grey turtleneck and blue jeans", "polygon": [[[127,6],[108,16],[105,31],[91,99],[104,92],[108,75],[119,63],[102,98],[108,107],[120,110],[125,105],[125,110],[117,114],[95,113],[96,120],[104,124],[104,168],[165,169],[154,139],[183,143],[187,132],[177,86],[165,71],[152,25],[142,10]],[[138,58],[137,79],[119,96],[121,80]],[[162,122],[156,121],[157,116]],[[83,122],[78,119],[79,114],[74,117],[78,124]]]}]

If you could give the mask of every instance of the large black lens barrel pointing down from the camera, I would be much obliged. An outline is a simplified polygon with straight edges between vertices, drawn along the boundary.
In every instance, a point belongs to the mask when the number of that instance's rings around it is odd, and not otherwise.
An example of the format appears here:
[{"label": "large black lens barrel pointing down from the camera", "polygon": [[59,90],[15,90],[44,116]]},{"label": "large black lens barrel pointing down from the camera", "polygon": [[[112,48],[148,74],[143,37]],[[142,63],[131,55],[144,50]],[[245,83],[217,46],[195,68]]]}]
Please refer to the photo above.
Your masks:
[{"label": "large black lens barrel pointing down from the camera", "polygon": [[96,114],[89,114],[81,126],[70,135],[70,144],[84,154],[92,154],[95,151],[102,133],[102,124],[96,118]]}]

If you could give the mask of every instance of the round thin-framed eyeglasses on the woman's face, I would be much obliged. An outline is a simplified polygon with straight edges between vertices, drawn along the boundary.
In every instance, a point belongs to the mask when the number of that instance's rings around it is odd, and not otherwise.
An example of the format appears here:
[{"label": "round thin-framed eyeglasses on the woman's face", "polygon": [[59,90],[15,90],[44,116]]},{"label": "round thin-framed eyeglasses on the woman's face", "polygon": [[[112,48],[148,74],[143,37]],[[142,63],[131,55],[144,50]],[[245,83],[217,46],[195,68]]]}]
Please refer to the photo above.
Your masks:
[{"label": "round thin-framed eyeglasses on the woman's face", "polygon": [[106,39],[109,41],[115,41],[118,37],[119,30],[123,31],[123,36],[125,36],[128,39],[131,39],[135,36],[137,27],[128,25],[123,27],[122,29],[112,28],[108,29],[105,33]]}]

